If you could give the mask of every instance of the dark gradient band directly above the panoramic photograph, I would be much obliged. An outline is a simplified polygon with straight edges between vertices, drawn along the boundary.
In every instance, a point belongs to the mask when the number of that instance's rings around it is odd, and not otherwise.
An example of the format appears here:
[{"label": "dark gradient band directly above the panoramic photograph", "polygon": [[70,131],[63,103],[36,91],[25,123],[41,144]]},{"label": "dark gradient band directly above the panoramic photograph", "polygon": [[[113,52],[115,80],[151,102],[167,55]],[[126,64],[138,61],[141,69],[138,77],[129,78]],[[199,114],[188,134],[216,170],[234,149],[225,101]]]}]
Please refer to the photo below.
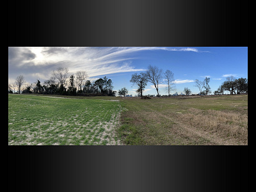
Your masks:
[{"label": "dark gradient band directly above the panoramic photograph", "polygon": [[248,46],[248,1],[8,1],[9,46]]}]

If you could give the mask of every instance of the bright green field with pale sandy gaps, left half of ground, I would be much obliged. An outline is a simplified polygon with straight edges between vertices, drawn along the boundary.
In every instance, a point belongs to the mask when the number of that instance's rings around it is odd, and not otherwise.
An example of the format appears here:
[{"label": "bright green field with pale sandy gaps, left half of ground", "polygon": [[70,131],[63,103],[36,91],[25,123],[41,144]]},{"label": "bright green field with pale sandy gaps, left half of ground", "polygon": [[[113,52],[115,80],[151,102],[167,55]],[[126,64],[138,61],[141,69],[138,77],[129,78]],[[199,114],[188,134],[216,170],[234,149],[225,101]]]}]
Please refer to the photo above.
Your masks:
[{"label": "bright green field with pale sandy gaps, left half of ground", "polygon": [[8,145],[120,145],[120,102],[8,94]]}]

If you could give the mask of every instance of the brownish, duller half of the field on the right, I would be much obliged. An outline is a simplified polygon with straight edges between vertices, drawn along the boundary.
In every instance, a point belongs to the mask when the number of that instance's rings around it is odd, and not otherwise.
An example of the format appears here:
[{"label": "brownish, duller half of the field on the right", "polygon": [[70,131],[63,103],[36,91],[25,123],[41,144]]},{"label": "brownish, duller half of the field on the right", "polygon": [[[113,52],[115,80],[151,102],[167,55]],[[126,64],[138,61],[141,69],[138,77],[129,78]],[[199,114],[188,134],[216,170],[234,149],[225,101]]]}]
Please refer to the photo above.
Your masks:
[{"label": "brownish, duller half of the field on the right", "polygon": [[126,145],[248,145],[248,95],[120,100]]}]

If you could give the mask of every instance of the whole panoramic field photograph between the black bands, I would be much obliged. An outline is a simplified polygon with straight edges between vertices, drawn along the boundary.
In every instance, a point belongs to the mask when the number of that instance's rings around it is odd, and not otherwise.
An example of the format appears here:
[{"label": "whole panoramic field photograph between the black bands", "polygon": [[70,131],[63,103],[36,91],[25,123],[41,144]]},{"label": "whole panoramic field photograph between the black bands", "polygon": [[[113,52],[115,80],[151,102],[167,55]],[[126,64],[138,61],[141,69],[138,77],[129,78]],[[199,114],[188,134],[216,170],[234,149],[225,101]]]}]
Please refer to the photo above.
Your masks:
[{"label": "whole panoramic field photograph between the black bands", "polygon": [[8,145],[248,145],[248,47],[8,47]]}]

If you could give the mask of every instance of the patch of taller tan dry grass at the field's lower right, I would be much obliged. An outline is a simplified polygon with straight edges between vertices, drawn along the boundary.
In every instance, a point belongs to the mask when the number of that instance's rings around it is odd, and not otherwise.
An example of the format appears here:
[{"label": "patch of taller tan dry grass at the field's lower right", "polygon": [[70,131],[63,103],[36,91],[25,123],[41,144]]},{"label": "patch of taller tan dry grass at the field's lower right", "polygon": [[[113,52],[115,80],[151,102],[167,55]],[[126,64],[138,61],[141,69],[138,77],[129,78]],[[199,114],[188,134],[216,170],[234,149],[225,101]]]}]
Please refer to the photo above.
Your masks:
[{"label": "patch of taller tan dry grass at the field's lower right", "polygon": [[[232,111],[202,110],[190,108],[175,118],[189,129],[211,134],[220,145],[248,145],[248,116]],[[235,144],[236,143],[236,144]]]}]

